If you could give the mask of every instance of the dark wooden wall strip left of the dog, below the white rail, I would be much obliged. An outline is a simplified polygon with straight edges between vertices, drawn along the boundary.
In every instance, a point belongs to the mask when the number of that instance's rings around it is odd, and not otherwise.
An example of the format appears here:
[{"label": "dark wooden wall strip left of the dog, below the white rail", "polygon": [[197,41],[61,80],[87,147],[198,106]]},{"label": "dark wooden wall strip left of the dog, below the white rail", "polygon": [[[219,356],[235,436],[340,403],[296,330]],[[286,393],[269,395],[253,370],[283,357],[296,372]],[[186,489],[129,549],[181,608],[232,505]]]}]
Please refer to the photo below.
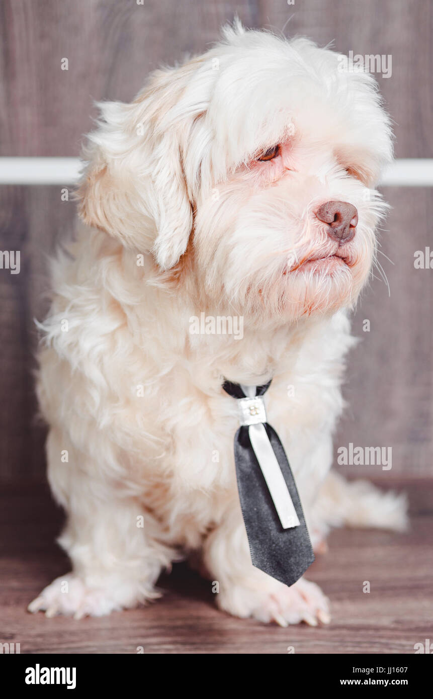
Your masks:
[{"label": "dark wooden wall strip left of the dog, below the white rail", "polygon": [[41,479],[45,430],[37,419],[34,319],[48,311],[48,254],[67,237],[75,205],[61,187],[0,187],[0,248],[20,251],[20,273],[0,270],[0,480]]}]

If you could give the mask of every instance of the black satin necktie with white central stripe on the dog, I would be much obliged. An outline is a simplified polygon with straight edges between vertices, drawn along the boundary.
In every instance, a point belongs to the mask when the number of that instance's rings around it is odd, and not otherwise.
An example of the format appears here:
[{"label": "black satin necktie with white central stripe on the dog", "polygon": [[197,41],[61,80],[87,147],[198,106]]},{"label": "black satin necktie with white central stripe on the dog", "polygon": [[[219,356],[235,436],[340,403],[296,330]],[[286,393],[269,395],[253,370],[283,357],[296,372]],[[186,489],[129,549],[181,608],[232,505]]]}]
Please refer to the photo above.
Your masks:
[{"label": "black satin necktie with white central stripe on the dog", "polygon": [[241,426],[234,461],[251,561],[285,585],[292,585],[314,561],[304,512],[288,458],[267,424],[264,386],[226,381],[222,388],[239,404]]}]

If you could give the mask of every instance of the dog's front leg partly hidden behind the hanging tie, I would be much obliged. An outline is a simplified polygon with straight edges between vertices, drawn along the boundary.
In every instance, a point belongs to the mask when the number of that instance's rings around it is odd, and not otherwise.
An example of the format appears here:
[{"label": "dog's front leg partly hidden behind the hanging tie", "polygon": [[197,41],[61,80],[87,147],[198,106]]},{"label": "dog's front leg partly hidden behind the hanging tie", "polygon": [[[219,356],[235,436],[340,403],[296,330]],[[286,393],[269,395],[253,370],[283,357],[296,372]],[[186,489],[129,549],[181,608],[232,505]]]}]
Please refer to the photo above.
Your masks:
[{"label": "dog's front leg partly hidden behind the hanging tie", "polygon": [[288,587],[253,566],[237,503],[204,542],[204,564],[218,582],[218,606],[236,617],[281,626],[300,621],[316,626],[330,620],[328,600],[316,584],[301,578]]}]

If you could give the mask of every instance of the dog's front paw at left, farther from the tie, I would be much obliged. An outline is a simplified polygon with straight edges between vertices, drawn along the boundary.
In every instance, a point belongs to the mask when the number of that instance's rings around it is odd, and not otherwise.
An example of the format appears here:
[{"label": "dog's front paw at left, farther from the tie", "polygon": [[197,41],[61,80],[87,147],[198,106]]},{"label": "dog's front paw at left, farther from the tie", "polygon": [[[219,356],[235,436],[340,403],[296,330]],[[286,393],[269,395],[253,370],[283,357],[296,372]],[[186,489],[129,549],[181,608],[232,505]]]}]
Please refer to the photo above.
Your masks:
[{"label": "dog's front paw at left, farther from the tie", "polygon": [[69,573],[53,580],[27,609],[32,614],[45,612],[45,617],[64,614],[66,617],[81,619],[104,617],[114,610],[120,610],[121,605],[105,590],[89,588],[79,577]]}]

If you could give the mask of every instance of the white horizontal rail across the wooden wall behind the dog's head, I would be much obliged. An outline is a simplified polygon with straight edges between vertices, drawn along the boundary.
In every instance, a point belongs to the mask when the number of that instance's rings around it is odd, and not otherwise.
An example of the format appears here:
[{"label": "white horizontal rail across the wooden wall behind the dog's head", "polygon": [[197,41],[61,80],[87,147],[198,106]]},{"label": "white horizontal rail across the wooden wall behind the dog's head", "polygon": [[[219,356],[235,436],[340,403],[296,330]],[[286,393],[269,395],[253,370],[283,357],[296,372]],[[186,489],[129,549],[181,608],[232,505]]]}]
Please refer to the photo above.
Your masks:
[{"label": "white horizontal rail across the wooden wall behind the dog's head", "polygon": [[[0,185],[73,185],[78,158],[0,158]],[[401,158],[385,172],[383,187],[433,187],[433,158]]]}]

